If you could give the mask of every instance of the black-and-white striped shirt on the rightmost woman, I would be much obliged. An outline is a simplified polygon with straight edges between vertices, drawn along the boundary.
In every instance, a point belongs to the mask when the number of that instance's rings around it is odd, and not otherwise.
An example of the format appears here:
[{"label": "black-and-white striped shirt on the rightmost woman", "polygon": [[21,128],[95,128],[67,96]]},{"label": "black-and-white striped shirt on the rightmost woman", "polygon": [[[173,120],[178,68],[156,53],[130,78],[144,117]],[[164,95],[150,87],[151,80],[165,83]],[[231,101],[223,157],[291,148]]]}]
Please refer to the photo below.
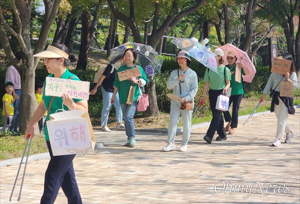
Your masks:
[{"label": "black-and-white striped shirt on the rightmost woman", "polygon": [[[289,80],[293,82],[293,89],[296,89],[298,87],[298,82],[297,82],[297,75],[295,72],[293,72],[289,76]],[[263,89],[263,93],[267,94],[270,91],[270,89],[272,90],[275,89],[276,91],[280,91],[281,81],[286,81],[284,75],[278,73],[271,73]]]}]

